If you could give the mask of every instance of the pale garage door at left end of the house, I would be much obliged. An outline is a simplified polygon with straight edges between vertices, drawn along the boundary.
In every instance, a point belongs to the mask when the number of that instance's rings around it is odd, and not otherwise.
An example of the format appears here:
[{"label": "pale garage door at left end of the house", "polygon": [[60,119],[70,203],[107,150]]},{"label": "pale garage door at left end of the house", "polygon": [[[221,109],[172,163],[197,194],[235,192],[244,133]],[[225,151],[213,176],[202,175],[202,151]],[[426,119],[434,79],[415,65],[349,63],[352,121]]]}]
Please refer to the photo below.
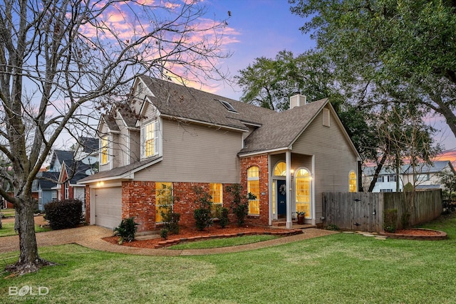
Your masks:
[{"label": "pale garage door at left end of the house", "polygon": [[109,229],[122,221],[122,188],[95,189],[95,225]]}]

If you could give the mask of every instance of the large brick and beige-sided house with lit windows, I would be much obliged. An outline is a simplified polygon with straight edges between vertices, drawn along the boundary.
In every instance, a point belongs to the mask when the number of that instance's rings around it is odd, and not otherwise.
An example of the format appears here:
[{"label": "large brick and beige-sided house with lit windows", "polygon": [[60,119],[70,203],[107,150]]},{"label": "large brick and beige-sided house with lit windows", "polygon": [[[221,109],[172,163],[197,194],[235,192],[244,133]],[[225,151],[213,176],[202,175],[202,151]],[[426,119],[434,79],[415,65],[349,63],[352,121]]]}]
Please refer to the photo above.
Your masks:
[{"label": "large brick and beige-sided house with lit windows", "polygon": [[182,85],[140,76],[128,104],[98,125],[100,172],[86,185],[86,220],[113,228],[135,216],[138,231],[162,224],[162,185],[172,188],[180,224],[194,226],[193,187],[229,207],[226,186],[240,183],[248,224],[284,221],[296,211],[321,224],[322,192],[356,192],[360,157],[328,100],[290,98],[275,112]]}]

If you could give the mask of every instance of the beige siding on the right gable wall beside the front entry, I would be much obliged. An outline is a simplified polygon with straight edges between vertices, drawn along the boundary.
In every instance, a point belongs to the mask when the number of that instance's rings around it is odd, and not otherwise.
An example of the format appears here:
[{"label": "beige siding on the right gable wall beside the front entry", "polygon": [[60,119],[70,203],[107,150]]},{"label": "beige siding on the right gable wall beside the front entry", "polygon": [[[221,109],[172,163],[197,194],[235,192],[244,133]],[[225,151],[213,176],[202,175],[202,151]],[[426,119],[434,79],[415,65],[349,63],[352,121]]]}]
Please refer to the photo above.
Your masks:
[{"label": "beige siding on the right gable wall beside the front entry", "polygon": [[[323,126],[323,114],[320,112],[307,127],[306,131],[293,145],[293,152],[307,155],[315,155],[315,205],[316,221],[321,221],[322,216],[322,192],[348,192],[348,174],[351,170],[358,177],[358,165],[356,152],[343,135],[343,130],[334,119],[331,112],[331,127]],[[296,156],[292,156],[292,162]],[[311,157],[305,162],[309,170]]]}]

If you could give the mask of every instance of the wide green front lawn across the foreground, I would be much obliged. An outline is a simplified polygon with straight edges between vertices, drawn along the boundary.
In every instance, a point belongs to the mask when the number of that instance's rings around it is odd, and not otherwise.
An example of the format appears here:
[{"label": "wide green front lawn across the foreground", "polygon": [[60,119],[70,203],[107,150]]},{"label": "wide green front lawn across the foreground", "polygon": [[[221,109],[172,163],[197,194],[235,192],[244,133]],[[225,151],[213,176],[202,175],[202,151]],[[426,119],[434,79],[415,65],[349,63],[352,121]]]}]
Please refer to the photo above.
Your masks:
[{"label": "wide green front lawn across the foreground", "polygon": [[[334,234],[213,256],[128,256],[41,248],[58,263],[0,278],[0,303],[456,303],[456,217],[425,225],[445,241]],[[0,240],[1,241],[1,240]],[[1,246],[1,243],[0,243]],[[18,253],[0,254],[1,267]],[[9,295],[39,286],[48,295]],[[35,288],[35,290],[33,290]]]}]

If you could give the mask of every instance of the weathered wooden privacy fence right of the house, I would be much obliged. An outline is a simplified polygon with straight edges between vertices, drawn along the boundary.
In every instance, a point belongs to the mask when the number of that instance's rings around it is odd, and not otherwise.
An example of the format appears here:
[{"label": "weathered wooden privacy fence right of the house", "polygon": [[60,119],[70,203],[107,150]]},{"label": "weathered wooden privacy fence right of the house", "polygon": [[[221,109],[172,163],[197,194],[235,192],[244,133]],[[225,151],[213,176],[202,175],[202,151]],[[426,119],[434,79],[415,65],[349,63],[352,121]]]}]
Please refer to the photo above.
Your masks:
[{"label": "weathered wooden privacy fence right of the house", "polygon": [[340,229],[361,231],[383,231],[383,211],[398,209],[400,217],[406,211],[406,197],[414,201],[410,213],[410,225],[417,225],[437,218],[442,213],[442,192],[440,190],[370,193],[370,192],[323,192],[323,224],[337,225]]}]

